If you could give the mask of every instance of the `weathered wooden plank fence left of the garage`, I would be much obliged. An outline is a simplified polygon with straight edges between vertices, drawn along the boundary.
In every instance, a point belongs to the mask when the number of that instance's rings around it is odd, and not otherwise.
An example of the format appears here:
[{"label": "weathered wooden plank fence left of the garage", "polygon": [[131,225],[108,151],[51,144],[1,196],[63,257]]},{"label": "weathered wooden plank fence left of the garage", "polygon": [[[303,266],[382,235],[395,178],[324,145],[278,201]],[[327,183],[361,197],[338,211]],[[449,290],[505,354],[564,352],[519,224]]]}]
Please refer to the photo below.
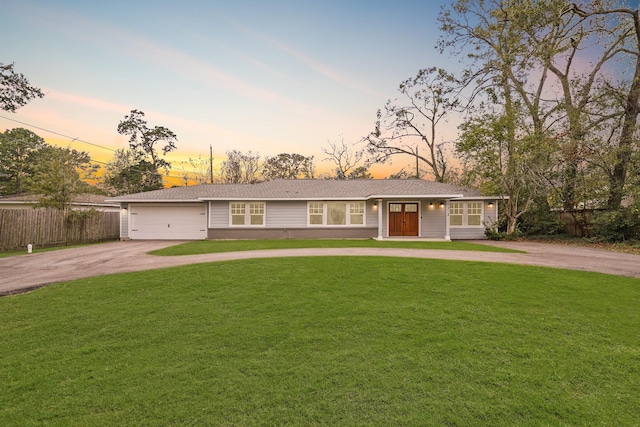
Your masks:
[{"label": "weathered wooden plank fence left of the garage", "polygon": [[73,215],[54,209],[0,209],[0,251],[115,240],[118,212]]}]

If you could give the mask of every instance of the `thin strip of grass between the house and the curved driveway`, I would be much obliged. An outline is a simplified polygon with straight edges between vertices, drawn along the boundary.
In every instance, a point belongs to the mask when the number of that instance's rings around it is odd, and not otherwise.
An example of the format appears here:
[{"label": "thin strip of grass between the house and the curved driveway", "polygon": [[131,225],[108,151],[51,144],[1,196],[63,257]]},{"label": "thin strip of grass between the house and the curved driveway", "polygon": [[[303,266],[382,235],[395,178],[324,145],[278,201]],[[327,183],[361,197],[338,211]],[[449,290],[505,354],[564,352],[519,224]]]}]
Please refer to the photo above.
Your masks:
[{"label": "thin strip of grass between the house and the curved driveway", "polygon": [[151,252],[153,255],[197,255],[216,252],[298,248],[407,248],[488,252],[521,252],[468,242],[377,241],[372,239],[200,240]]}]

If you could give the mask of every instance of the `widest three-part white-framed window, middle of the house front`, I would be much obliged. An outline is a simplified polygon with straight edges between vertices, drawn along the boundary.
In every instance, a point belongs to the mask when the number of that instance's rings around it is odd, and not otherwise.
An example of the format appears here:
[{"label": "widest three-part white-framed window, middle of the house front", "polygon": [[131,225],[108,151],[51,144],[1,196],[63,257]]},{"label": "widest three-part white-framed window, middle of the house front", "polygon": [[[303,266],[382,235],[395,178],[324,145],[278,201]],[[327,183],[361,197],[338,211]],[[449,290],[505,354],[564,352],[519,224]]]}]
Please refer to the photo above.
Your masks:
[{"label": "widest three-part white-framed window, middle of the house front", "polygon": [[309,202],[308,224],[342,227],[365,225],[364,201]]}]

